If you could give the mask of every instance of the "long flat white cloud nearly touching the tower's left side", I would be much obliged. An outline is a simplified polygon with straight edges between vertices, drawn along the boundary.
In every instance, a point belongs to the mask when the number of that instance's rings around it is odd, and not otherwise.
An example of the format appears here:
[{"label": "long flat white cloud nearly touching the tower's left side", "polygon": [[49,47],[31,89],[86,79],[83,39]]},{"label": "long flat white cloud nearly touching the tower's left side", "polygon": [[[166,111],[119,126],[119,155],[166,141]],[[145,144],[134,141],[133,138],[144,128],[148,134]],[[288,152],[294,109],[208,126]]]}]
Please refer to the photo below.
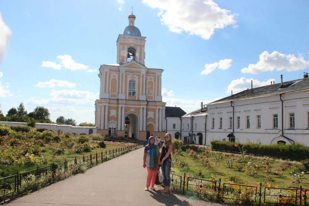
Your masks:
[{"label": "long flat white cloud nearly touching the tower's left side", "polygon": [[97,99],[97,95],[95,95],[93,92],[89,91],[79,91],[79,90],[52,90],[52,92],[49,94],[50,96],[56,98],[56,97],[76,97],[76,98],[84,98],[84,99]]}]

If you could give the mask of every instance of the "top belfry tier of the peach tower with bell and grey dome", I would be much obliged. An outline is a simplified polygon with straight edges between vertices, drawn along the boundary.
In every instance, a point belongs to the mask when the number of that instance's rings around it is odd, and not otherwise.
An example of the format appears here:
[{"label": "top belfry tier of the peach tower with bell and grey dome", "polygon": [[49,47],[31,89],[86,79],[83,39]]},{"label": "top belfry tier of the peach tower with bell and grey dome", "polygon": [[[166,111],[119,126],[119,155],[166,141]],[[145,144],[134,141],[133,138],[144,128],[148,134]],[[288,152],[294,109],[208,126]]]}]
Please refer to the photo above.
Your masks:
[{"label": "top belfry tier of the peach tower with bell and grey dome", "polygon": [[117,63],[122,65],[136,61],[145,65],[145,42],[146,37],[142,36],[138,27],[134,26],[136,16],[133,12],[128,16],[129,25],[125,27],[123,34],[119,34],[116,41]]}]

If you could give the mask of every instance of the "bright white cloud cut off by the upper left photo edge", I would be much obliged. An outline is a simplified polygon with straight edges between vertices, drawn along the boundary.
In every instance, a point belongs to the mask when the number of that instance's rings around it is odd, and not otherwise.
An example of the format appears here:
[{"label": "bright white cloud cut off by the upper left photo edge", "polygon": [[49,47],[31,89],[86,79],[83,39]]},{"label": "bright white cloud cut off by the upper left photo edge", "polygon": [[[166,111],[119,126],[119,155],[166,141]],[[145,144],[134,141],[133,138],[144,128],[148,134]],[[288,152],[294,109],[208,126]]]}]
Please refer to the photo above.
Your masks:
[{"label": "bright white cloud cut off by the upper left photo edge", "polygon": [[1,31],[0,32],[0,63],[1,63],[12,36],[10,28],[6,26],[6,24],[2,20],[1,12],[0,12],[0,31]]}]

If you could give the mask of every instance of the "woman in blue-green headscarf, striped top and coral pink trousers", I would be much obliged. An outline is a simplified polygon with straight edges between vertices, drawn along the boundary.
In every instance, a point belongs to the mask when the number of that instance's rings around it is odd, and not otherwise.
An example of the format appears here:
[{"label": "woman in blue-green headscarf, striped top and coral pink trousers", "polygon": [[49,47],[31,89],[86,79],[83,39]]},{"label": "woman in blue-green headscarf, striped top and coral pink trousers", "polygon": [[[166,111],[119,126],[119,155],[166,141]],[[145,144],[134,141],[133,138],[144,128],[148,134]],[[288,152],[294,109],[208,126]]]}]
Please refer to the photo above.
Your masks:
[{"label": "woman in blue-green headscarf, striped top and coral pink trousers", "polygon": [[155,137],[149,137],[148,145],[144,149],[144,165],[147,167],[148,175],[145,190],[148,191],[151,182],[151,189],[155,190],[155,180],[159,170],[159,146],[155,144]]}]

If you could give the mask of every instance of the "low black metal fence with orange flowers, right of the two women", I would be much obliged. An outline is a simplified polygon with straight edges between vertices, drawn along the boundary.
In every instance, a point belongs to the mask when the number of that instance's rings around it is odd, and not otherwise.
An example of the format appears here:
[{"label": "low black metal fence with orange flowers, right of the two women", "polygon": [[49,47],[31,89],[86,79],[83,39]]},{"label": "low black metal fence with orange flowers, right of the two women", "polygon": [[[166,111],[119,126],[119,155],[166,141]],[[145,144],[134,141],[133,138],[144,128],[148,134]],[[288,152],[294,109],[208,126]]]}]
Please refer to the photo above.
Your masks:
[{"label": "low black metal fence with orange flowers, right of the two women", "polygon": [[196,193],[202,196],[203,199],[222,202],[225,199],[242,202],[244,205],[255,203],[256,205],[295,205],[307,206],[309,201],[307,197],[309,190],[304,190],[302,186],[296,189],[292,188],[276,188],[276,187],[262,187],[249,186],[246,184],[232,184],[224,183],[219,179],[206,180],[194,178],[192,176],[179,174],[171,174],[171,186],[176,191]]}]

